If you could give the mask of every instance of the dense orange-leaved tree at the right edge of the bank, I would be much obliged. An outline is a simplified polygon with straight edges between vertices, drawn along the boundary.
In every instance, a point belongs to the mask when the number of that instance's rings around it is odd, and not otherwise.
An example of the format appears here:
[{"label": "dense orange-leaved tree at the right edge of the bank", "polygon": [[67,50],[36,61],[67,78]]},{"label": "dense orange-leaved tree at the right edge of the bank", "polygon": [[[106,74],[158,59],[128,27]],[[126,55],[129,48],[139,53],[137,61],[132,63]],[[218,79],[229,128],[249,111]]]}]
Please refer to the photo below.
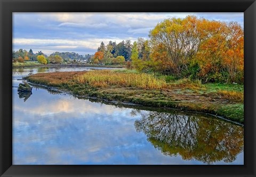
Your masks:
[{"label": "dense orange-leaved tree at the right edge of the bank", "polygon": [[[204,20],[207,32],[195,57],[205,82],[243,82],[244,34],[238,23]],[[238,78],[239,76],[239,78]]]}]

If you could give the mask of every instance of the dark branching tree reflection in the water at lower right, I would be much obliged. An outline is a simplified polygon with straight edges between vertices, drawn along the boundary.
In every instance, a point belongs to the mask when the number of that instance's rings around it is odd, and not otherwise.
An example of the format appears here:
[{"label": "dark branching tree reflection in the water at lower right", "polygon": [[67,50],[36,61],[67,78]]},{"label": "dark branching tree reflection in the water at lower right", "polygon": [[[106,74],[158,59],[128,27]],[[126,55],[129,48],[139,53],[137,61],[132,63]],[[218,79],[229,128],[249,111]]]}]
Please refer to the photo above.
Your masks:
[{"label": "dark branching tree reflection in the water at lower right", "polygon": [[144,132],[164,155],[179,154],[185,160],[213,164],[220,160],[233,162],[243,151],[241,126],[203,116],[140,111],[137,114],[142,116],[134,123],[137,132]]}]

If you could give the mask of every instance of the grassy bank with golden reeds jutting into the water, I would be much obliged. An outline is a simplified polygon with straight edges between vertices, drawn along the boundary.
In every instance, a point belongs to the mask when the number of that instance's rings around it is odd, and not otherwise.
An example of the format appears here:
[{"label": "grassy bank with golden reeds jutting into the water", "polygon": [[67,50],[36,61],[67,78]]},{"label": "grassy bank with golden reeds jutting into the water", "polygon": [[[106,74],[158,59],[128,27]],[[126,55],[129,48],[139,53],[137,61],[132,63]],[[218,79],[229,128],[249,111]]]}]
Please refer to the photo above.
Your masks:
[{"label": "grassy bank with golden reeds jutting into the water", "polygon": [[139,74],[132,70],[43,73],[26,79],[77,95],[207,112],[244,122],[243,85],[201,84],[189,79],[173,81],[170,76]]}]

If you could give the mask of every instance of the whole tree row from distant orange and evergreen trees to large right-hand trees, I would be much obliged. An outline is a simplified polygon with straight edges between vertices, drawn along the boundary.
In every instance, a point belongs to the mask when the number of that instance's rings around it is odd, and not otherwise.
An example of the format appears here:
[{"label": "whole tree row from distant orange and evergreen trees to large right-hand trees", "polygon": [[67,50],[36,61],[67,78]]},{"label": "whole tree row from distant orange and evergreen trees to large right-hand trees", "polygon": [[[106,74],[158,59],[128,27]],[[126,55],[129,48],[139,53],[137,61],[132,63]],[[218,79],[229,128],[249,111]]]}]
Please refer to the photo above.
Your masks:
[{"label": "whole tree row from distant orange and evergreen trees to large right-hand trees", "polygon": [[127,63],[139,71],[203,82],[243,83],[244,31],[237,22],[170,18],[150,30],[147,40],[102,42],[91,62]]}]

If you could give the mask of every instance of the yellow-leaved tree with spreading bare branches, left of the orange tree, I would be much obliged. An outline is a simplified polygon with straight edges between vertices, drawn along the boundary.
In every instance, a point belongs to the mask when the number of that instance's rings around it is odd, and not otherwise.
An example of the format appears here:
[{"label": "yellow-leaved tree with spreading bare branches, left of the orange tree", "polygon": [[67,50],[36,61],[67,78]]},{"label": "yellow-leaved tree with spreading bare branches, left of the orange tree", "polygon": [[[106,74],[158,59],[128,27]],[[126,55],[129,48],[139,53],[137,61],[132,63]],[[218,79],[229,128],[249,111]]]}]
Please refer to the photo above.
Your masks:
[{"label": "yellow-leaved tree with spreading bare branches, left of the orange tree", "polygon": [[[202,41],[196,28],[197,21],[195,16],[166,19],[150,31],[153,55],[159,53],[154,49],[159,49],[161,45],[161,50],[167,52],[166,62],[173,63],[173,68],[168,68],[168,71],[179,75],[187,70],[188,60],[196,53]],[[162,64],[166,65],[165,62]]]}]

